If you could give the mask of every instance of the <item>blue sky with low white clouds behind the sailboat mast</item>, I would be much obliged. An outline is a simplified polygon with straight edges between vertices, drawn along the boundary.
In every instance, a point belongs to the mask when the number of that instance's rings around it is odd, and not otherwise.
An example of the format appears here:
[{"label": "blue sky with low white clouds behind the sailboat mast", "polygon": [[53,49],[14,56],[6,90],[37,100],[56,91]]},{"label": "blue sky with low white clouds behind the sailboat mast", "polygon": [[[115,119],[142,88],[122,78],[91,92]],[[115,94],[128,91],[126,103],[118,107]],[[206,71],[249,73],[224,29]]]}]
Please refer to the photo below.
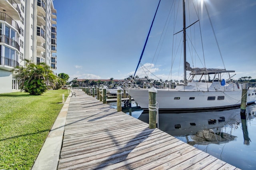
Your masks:
[{"label": "blue sky with low white clouds behind the sailboat mast", "polygon": [[[243,76],[256,79],[256,1],[206,0],[206,4],[225,68],[236,71],[233,79]],[[56,73],[66,73],[70,80],[74,77],[124,79],[133,75],[157,5],[158,0],[54,0],[57,10]],[[172,35],[182,29],[181,20],[175,28],[173,21],[168,20],[168,28],[164,29],[171,6],[172,0],[161,0],[141,61],[162,80],[183,79],[180,51],[172,51]],[[191,23],[196,21],[190,19]],[[206,30],[202,33],[206,67],[224,68],[205,9],[200,11],[200,26]],[[164,39],[160,39],[162,32]],[[181,35],[177,35],[177,40]],[[175,60],[173,53],[176,53]],[[194,59],[193,63],[196,61],[199,59]],[[191,66],[204,67],[189,62]],[[173,71],[170,72],[171,65]],[[146,76],[141,68],[136,75]]]}]

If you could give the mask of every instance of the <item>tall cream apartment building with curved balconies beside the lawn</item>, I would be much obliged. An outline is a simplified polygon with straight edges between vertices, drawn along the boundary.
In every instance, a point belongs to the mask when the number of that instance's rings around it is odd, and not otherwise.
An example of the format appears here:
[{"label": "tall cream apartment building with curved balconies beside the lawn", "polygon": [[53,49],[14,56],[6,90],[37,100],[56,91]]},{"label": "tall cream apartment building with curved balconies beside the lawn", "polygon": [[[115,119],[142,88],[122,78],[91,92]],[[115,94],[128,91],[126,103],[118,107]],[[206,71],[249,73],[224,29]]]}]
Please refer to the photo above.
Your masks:
[{"label": "tall cream apartment building with curved balconies beside the lawn", "polygon": [[57,69],[56,14],[53,0],[0,0],[0,93],[19,89],[24,59]]}]

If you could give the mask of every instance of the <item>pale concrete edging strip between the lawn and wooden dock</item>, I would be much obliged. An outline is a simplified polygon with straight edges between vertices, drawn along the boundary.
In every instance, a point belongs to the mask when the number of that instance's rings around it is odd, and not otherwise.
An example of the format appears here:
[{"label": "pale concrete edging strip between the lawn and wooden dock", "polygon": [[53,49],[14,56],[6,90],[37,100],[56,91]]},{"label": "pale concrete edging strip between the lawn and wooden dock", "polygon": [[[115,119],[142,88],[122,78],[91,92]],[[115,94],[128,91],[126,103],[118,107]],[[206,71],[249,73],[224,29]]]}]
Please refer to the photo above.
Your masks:
[{"label": "pale concrete edging strip between the lawn and wooden dock", "polygon": [[56,170],[60,158],[66,116],[72,93],[70,93],[60,110],[45,142],[40,150],[32,170]]}]

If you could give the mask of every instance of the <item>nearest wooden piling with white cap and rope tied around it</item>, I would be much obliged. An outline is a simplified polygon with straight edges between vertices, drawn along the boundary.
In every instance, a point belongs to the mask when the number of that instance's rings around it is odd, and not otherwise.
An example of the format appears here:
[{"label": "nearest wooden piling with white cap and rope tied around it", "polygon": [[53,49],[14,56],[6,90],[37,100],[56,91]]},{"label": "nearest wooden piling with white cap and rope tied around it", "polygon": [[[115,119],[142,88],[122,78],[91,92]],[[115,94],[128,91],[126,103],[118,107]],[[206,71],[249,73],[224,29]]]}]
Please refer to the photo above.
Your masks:
[{"label": "nearest wooden piling with white cap and rope tied around it", "polygon": [[156,93],[157,90],[155,87],[151,87],[148,90],[149,94],[149,105],[148,105],[148,117],[149,117],[149,128],[156,128]]}]

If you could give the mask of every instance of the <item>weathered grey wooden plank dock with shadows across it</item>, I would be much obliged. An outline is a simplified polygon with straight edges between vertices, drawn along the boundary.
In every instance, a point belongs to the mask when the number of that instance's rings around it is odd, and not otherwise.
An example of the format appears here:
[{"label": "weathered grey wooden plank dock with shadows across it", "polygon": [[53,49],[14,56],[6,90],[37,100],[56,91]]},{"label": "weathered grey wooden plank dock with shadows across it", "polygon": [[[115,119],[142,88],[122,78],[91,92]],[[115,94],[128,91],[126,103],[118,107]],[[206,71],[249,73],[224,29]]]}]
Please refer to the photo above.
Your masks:
[{"label": "weathered grey wooden plank dock with shadows across it", "polygon": [[70,99],[59,170],[238,169],[82,90]]}]

